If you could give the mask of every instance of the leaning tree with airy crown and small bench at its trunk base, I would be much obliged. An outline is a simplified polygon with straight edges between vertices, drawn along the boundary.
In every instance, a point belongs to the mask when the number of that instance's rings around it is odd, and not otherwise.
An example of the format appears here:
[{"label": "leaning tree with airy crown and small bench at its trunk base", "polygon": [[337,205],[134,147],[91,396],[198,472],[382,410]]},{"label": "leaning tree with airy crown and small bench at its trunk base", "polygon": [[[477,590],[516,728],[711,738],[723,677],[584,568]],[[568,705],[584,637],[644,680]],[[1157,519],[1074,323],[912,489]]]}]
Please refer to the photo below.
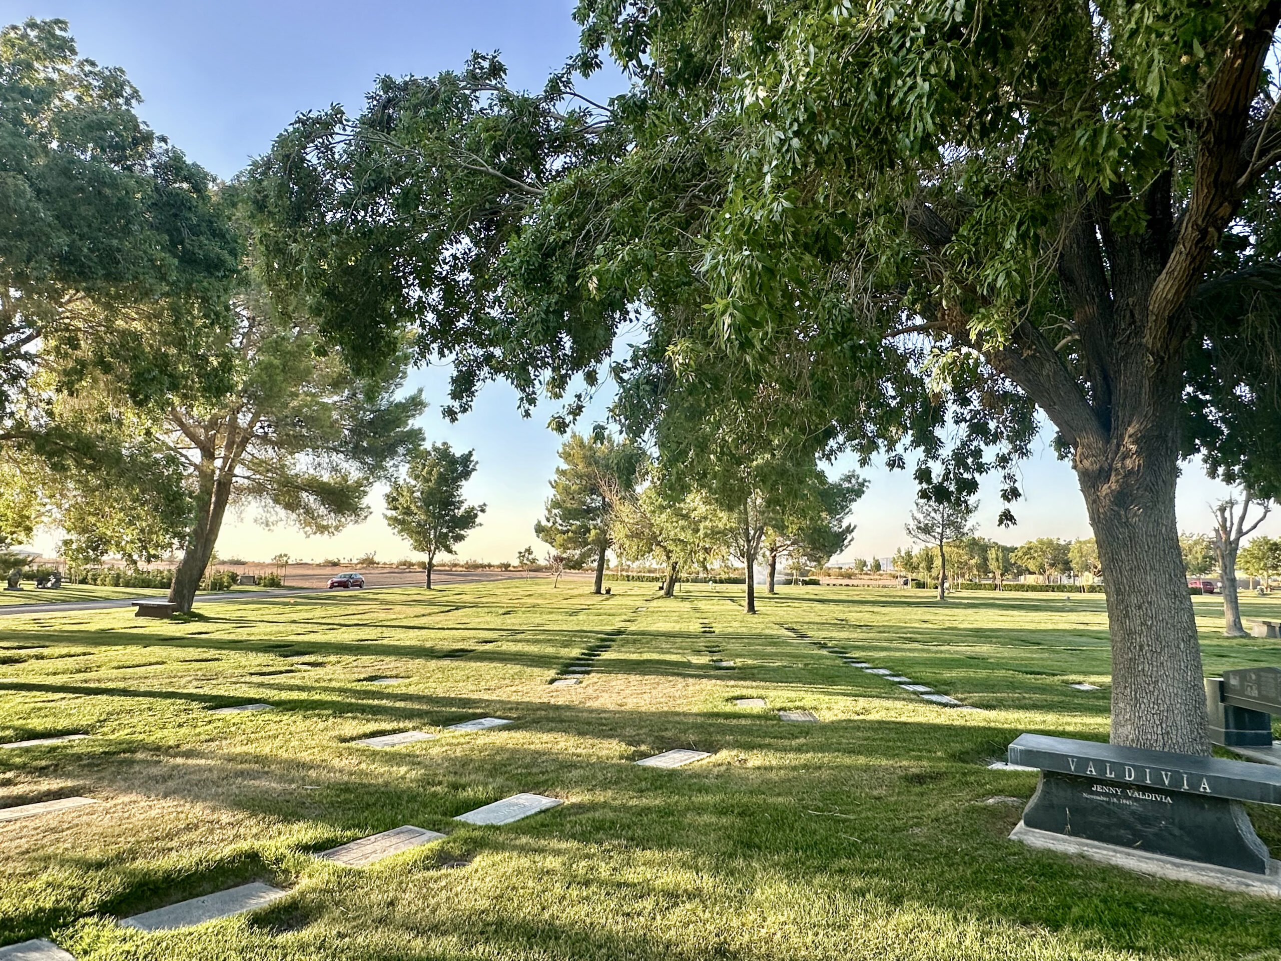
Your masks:
[{"label": "leaning tree with airy crown and small bench at its trunk base", "polygon": [[252,279],[233,309],[222,343],[227,390],[213,400],[174,397],[158,425],[183,459],[191,495],[169,592],[183,611],[233,504],[257,507],[265,523],[341,529],[368,515],[369,486],[421,437],[409,425],[423,410],[420,395],[396,396],[402,359],[354,374],[341,351],[323,349],[305,313],[273,301]]}]

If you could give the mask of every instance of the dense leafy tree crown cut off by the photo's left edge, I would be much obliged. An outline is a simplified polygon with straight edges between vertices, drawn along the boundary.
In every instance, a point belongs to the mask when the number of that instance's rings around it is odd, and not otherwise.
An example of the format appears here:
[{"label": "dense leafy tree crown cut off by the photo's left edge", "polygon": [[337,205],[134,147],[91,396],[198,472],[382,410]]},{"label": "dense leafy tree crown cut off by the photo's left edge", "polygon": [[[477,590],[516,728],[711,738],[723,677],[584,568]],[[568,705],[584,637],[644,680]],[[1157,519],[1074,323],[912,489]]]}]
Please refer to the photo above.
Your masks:
[{"label": "dense leafy tree crown cut off by the photo's left edge", "polygon": [[240,241],[208,173],[143,124],[115,68],[78,59],[65,21],[0,31],[0,439],[63,439],[31,378],[109,372],[136,404],[210,372]]}]

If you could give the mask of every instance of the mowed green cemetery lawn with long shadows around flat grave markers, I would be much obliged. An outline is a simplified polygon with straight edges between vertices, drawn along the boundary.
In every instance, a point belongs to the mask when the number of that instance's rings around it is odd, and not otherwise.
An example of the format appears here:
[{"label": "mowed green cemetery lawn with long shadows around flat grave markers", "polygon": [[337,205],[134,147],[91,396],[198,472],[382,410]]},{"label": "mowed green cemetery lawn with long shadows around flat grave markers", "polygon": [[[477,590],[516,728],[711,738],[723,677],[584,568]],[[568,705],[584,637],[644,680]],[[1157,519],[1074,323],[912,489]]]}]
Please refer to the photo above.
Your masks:
[{"label": "mowed green cemetery lawn with long shadows around flat grave markers", "polygon": [[[1107,737],[1102,597],[784,588],[749,618],[728,587],[614,589],[518,579],[228,601],[191,623],[0,619],[0,742],[92,735],[0,751],[0,806],[104,802],[0,823],[0,944],[49,937],[82,961],[1281,960],[1278,902],[1007,839],[1036,775],[986,761],[1025,730]],[[1276,641],[1217,637],[1214,598],[1195,602],[1208,671],[1281,664]],[[550,684],[598,645],[582,684]],[[255,701],[275,710],[209,712]],[[487,715],[514,723],[443,732]],[[351,743],[415,729],[441,737]],[[633,764],[670,748],[711,757]],[[452,820],[518,792],[566,803]],[[1281,853],[1277,812],[1252,815]],[[405,824],[448,838],[366,869],[314,857]],[[251,880],[291,893],[182,930],[114,921]]]}]

